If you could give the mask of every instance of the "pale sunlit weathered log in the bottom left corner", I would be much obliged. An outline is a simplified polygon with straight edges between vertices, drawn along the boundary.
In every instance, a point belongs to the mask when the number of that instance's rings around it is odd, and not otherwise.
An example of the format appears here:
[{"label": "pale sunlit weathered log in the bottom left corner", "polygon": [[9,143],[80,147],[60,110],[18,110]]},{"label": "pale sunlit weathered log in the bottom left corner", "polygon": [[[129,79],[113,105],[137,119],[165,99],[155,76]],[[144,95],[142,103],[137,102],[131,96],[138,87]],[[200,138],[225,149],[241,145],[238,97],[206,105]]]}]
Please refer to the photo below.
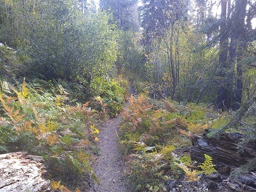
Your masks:
[{"label": "pale sunlit weathered log in the bottom left corner", "polygon": [[51,191],[42,157],[25,152],[0,155],[0,192]]}]

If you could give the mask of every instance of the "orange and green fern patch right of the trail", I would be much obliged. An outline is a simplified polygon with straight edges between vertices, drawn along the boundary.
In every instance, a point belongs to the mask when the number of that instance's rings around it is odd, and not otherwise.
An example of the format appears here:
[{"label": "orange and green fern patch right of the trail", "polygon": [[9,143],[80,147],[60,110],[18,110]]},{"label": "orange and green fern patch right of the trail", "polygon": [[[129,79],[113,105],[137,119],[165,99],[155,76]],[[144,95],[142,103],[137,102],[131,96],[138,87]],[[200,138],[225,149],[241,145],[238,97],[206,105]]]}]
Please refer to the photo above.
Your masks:
[{"label": "orange and green fern patch right of the trail", "polygon": [[193,134],[226,124],[227,114],[195,104],[178,105],[168,99],[150,100],[143,95],[129,101],[123,112],[120,140],[127,158],[126,174],[135,184],[133,190],[166,191],[169,181],[183,176],[197,181],[202,172],[214,172],[209,155],[205,154],[204,164],[197,167],[189,154],[175,155],[175,150],[189,147]]}]

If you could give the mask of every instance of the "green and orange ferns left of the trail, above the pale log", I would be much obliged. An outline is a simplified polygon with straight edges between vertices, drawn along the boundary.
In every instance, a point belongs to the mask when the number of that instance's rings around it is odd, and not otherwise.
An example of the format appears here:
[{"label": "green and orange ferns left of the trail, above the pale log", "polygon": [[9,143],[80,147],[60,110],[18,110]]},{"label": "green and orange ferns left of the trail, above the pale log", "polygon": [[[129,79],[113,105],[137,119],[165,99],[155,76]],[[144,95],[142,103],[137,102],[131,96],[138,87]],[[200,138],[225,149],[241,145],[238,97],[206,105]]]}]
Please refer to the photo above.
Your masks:
[{"label": "green and orange ferns left of the trail, above the pale log", "polygon": [[98,181],[90,162],[99,140],[95,124],[104,114],[90,109],[88,103],[67,105],[67,90],[47,84],[23,81],[1,93],[1,153],[25,150],[42,155],[50,179],[61,180],[69,188],[86,189],[85,178]]}]

